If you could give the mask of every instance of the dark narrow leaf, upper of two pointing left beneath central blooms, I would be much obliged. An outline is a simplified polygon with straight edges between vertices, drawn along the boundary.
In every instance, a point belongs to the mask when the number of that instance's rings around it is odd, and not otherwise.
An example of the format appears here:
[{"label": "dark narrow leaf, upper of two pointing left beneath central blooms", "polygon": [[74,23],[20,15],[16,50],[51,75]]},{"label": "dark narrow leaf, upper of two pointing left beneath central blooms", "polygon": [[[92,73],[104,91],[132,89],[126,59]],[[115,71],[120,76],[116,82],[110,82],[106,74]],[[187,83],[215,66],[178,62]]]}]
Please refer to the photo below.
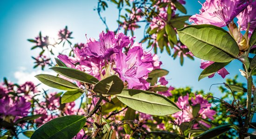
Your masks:
[{"label": "dark narrow leaf, upper of two pointing left beneath central blooms", "polygon": [[95,84],[99,82],[94,76],[91,76],[85,72],[82,72],[77,69],[67,68],[67,67],[52,67],[55,72],[60,75],[66,76],[67,78],[80,81],[80,82],[87,82],[91,84]]}]

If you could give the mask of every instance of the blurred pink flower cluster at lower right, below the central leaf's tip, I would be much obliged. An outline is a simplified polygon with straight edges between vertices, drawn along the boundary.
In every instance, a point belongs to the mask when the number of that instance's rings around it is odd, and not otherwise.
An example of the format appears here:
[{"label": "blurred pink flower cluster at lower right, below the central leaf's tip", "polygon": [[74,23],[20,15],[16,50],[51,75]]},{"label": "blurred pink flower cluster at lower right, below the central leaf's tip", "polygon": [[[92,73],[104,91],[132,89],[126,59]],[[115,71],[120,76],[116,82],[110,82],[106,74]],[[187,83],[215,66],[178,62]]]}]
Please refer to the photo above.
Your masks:
[{"label": "blurred pink flower cluster at lower right, below the central leaf's tip", "polygon": [[[216,114],[214,110],[210,109],[211,104],[207,100],[203,99],[201,95],[195,95],[195,98],[192,97],[191,102],[189,101],[189,94],[180,96],[176,104],[180,109],[182,109],[182,111],[172,114],[175,118],[174,121],[176,125],[181,125],[183,122],[190,122],[198,117],[213,120],[213,116]],[[193,108],[195,108],[196,105],[200,105],[200,109],[196,115],[193,115]],[[199,124],[208,128],[210,127],[210,125],[201,120],[198,123],[193,123],[193,127],[197,127]]]}]

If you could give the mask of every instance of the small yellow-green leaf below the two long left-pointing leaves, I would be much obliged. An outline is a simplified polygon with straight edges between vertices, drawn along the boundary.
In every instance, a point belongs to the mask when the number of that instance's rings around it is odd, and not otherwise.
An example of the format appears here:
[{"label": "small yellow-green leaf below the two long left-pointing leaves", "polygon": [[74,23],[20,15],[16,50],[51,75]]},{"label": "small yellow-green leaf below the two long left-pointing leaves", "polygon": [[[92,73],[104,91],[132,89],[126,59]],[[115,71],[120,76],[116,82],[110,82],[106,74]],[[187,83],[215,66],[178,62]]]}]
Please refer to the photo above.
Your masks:
[{"label": "small yellow-green leaf below the two long left-pointing leaves", "polygon": [[61,97],[61,104],[73,102],[76,99],[78,99],[81,95],[83,95],[83,92],[81,92],[81,90],[67,91]]}]

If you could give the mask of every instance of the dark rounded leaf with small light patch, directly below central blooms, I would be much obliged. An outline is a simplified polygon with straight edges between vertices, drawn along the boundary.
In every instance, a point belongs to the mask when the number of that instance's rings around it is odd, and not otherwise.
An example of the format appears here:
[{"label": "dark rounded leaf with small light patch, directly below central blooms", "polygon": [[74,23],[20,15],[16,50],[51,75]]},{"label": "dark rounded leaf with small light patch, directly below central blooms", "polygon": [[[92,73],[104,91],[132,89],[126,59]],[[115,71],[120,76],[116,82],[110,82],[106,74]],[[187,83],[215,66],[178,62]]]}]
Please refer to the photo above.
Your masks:
[{"label": "dark rounded leaf with small light patch, directly below central blooms", "polygon": [[121,93],[123,88],[123,81],[118,76],[113,75],[95,84],[93,90],[105,95],[115,95]]}]

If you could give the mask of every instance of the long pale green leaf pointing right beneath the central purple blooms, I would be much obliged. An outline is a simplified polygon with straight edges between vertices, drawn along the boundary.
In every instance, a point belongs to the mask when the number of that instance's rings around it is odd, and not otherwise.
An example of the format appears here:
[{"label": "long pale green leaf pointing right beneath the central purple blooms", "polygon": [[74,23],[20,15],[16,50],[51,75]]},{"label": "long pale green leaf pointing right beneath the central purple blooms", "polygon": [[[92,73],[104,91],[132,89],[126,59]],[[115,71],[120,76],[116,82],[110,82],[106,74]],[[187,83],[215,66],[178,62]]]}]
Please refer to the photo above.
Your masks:
[{"label": "long pale green leaf pointing right beneath the central purple blooms", "polygon": [[125,89],[116,96],[128,107],[145,114],[162,116],[180,111],[174,102],[153,92]]}]

